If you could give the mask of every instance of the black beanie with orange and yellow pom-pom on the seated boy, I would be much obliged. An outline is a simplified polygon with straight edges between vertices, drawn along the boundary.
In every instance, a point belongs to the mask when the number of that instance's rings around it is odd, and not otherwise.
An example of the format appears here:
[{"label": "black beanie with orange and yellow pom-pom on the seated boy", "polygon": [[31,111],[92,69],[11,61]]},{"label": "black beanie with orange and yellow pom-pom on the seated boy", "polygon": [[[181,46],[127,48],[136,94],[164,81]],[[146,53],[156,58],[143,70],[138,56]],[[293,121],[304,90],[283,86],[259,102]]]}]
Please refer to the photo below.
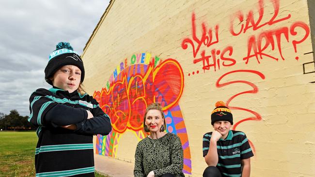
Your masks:
[{"label": "black beanie with orange and yellow pom-pom on the seated boy", "polygon": [[216,108],[211,112],[211,125],[216,121],[229,121],[233,125],[233,115],[224,102],[219,101],[215,106]]}]

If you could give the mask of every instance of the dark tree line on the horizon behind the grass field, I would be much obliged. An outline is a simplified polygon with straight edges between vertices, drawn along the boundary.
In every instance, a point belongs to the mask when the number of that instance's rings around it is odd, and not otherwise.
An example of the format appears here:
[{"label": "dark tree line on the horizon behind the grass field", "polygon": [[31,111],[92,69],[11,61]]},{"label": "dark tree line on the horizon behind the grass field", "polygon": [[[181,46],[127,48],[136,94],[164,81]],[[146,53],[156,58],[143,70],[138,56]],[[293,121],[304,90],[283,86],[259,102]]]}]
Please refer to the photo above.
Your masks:
[{"label": "dark tree line on the horizon behind the grass field", "polygon": [[21,116],[13,109],[9,115],[0,113],[0,130],[36,130],[27,119],[28,116]]}]

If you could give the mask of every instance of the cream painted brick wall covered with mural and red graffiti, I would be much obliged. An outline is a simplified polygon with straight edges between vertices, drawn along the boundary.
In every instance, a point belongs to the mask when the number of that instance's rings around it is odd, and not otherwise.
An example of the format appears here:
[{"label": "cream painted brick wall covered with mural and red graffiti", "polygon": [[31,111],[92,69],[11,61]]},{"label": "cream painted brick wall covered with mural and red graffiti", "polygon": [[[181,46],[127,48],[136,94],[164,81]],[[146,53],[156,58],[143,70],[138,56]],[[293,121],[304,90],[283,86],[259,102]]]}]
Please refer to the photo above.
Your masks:
[{"label": "cream painted brick wall covered with mural and red graffiti", "polygon": [[201,177],[202,137],[222,100],[254,149],[252,177],[315,177],[308,9],[307,0],[112,0],[82,54],[85,87],[114,128],[97,136],[96,153],[134,162],[143,109],[162,101],[186,176]]}]

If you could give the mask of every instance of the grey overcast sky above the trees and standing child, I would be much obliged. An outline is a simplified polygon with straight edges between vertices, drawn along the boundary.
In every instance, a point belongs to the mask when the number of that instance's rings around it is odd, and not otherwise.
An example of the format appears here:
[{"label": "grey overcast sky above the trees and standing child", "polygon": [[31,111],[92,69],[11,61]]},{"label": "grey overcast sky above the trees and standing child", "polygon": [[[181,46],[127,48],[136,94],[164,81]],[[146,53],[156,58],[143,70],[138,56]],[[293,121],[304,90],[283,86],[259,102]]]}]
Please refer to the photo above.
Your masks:
[{"label": "grey overcast sky above the trees and standing child", "polygon": [[79,54],[109,0],[1,0],[0,112],[29,116],[29,98],[44,79],[49,54],[69,42]]}]

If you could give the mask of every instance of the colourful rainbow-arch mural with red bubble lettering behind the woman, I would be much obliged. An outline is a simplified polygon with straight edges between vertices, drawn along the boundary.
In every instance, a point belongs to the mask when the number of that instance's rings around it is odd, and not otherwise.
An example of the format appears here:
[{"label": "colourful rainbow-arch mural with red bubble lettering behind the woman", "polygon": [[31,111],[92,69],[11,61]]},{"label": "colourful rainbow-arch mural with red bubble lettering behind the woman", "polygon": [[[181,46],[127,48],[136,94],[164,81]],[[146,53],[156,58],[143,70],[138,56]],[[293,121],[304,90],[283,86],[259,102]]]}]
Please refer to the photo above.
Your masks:
[{"label": "colourful rainbow-arch mural with red bubble lettering behind the woman", "polygon": [[128,65],[121,62],[110,76],[106,88],[94,91],[94,98],[112,123],[107,136],[97,135],[96,154],[116,157],[119,139],[126,130],[138,141],[147,136],[143,131],[143,116],[150,103],[161,103],[167,132],[177,134],[184,149],[184,170],[191,174],[190,149],[187,130],[178,101],[184,88],[184,74],[175,59],[151,58],[149,53],[133,55]]}]

